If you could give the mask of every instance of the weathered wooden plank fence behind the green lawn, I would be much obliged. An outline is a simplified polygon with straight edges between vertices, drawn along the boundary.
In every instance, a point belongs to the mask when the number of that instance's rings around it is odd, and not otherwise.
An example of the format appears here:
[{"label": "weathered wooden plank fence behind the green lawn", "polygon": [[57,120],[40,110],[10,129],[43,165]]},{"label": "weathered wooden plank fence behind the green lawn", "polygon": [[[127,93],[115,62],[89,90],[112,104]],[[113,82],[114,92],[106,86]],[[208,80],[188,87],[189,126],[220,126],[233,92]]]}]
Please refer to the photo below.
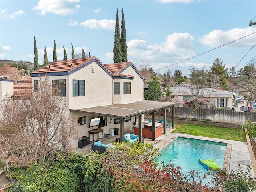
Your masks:
[{"label": "weathered wooden plank fence behind the green lawn", "polygon": [[[256,122],[256,113],[240,112],[220,109],[196,109],[194,107],[175,107],[175,119],[199,120],[204,122],[218,122],[242,126],[248,118]],[[163,112],[156,112],[156,115],[163,115]],[[172,116],[172,110],[166,111],[166,116]]]}]

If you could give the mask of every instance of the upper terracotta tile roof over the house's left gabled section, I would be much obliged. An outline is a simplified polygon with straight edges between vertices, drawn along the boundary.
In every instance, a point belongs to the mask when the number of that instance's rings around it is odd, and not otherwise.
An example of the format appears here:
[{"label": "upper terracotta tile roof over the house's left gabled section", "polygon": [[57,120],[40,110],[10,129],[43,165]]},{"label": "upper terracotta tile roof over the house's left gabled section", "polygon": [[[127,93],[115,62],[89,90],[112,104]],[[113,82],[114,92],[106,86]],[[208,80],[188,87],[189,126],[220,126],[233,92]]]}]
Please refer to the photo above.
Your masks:
[{"label": "upper terracotta tile roof over the house's left gabled section", "polygon": [[44,66],[44,67],[32,72],[31,74],[51,73],[51,72],[71,72],[71,71],[79,68],[80,66],[87,64],[88,62],[90,62],[94,59],[97,60],[100,64],[102,64],[100,62],[100,60],[98,60],[98,58],[96,58],[96,57],[60,60],[60,61],[56,61],[48,66]]}]

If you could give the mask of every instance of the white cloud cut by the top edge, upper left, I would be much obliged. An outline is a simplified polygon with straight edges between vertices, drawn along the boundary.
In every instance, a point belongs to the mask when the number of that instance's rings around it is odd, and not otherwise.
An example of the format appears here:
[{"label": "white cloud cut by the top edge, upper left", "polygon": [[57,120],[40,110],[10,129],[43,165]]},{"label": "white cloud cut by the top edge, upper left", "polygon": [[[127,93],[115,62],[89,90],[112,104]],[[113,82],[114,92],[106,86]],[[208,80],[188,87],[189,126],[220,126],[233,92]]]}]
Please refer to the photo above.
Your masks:
[{"label": "white cloud cut by the top edge, upper left", "polygon": [[33,9],[40,10],[42,15],[47,12],[57,15],[69,15],[74,14],[80,8],[80,5],[73,5],[76,2],[79,2],[79,0],[40,0]]}]

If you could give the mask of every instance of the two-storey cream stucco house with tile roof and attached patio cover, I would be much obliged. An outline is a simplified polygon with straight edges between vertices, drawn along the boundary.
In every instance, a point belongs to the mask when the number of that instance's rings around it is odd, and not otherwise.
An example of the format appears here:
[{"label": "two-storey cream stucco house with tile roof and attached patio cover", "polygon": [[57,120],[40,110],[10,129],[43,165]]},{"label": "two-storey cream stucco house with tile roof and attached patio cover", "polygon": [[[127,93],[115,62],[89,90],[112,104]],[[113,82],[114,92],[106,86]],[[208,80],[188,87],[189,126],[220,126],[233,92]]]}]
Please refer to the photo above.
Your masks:
[{"label": "two-storey cream stucco house with tile roof and attached patio cover", "polygon": [[[132,62],[102,64],[96,57],[61,60],[44,66],[15,84],[14,96],[19,98],[26,88],[37,91],[40,76],[46,74],[60,89],[60,96],[66,98],[70,113],[77,117],[74,123],[80,125],[81,136],[90,136],[88,131],[94,128],[102,128],[105,134],[119,128],[122,142],[124,132],[132,129],[133,122],[139,122],[144,113],[152,112],[153,117],[158,109],[176,106],[144,101],[144,80]],[[90,127],[92,121],[99,119],[96,126]],[[74,147],[77,143],[74,142]]]}]

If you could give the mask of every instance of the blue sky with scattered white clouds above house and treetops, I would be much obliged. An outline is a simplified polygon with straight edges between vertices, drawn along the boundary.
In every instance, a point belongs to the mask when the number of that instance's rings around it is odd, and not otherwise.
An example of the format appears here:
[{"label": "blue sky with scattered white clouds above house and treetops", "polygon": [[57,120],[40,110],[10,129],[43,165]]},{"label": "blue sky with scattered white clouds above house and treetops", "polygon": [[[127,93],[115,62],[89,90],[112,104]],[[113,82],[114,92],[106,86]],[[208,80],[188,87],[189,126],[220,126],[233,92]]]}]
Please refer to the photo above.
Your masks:
[{"label": "blue sky with scattered white clouds above house and treetops", "polygon": [[229,69],[256,56],[255,0],[0,0],[0,59],[39,64],[44,47],[53,60],[82,49],[103,64],[113,63],[116,10],[124,10],[128,61],[146,61],[157,73],[210,70],[219,58]]}]

